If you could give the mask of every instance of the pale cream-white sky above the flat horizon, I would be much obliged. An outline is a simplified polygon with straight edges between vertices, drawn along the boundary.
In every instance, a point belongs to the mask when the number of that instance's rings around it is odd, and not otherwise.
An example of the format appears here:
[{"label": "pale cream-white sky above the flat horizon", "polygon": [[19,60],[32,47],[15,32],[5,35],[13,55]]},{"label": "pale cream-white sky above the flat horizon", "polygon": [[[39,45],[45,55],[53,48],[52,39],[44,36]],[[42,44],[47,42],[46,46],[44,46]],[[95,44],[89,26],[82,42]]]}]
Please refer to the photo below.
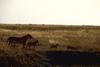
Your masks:
[{"label": "pale cream-white sky above the flat horizon", "polygon": [[0,0],[0,23],[100,25],[100,0]]}]

